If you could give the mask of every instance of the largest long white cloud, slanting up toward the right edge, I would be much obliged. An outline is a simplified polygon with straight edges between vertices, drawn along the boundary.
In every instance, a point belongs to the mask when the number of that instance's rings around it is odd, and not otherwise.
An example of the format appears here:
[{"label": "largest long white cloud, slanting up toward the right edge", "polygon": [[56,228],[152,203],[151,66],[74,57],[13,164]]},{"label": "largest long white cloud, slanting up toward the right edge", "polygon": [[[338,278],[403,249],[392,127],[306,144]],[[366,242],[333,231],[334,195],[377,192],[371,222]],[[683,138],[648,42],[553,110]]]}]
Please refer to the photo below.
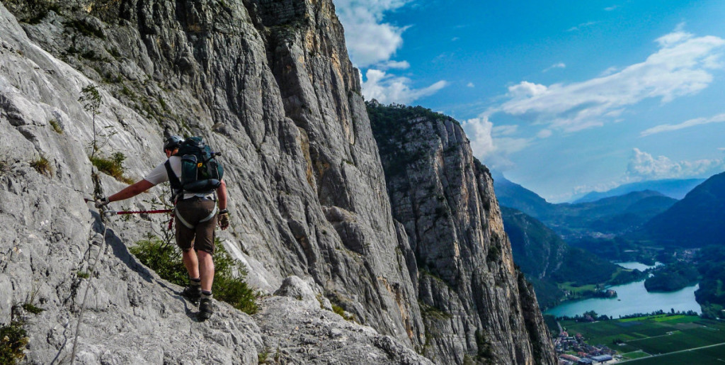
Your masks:
[{"label": "largest long white cloud, slanting up toward the right edge", "polygon": [[676,30],[657,43],[660,49],[647,60],[610,75],[550,86],[522,81],[508,88],[507,102],[482,115],[505,112],[550,128],[578,131],[613,121],[625,107],[644,99],[670,102],[695,94],[710,85],[711,71],[721,67],[722,38]]}]

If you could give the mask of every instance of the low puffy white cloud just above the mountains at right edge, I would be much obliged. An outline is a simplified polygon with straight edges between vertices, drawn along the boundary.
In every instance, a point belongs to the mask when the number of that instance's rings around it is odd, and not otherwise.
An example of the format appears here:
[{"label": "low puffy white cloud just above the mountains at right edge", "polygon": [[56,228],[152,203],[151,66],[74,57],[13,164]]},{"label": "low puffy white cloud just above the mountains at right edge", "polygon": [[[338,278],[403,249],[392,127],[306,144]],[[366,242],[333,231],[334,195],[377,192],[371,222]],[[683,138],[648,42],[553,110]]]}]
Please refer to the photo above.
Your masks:
[{"label": "low puffy white cloud just above the mountains at right edge", "polygon": [[709,175],[722,171],[725,159],[673,161],[666,156],[653,157],[635,148],[627,165],[627,177],[631,181],[674,179]]}]

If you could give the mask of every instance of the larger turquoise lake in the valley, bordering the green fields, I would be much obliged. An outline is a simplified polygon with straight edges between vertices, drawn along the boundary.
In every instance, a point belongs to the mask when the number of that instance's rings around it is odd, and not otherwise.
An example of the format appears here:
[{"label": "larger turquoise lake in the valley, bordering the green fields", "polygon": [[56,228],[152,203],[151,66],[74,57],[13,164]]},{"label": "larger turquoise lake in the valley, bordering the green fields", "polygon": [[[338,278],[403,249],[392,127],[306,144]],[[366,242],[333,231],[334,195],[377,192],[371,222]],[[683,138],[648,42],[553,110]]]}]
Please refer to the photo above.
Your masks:
[{"label": "larger turquoise lake in the valley, bordering the green fields", "polygon": [[576,316],[586,311],[618,318],[634,313],[650,313],[654,311],[695,311],[701,313],[700,305],[695,301],[695,290],[698,284],[685,287],[676,292],[647,292],[645,281],[616,285],[607,289],[616,290],[617,298],[591,298],[563,303],[544,312],[554,316]]}]

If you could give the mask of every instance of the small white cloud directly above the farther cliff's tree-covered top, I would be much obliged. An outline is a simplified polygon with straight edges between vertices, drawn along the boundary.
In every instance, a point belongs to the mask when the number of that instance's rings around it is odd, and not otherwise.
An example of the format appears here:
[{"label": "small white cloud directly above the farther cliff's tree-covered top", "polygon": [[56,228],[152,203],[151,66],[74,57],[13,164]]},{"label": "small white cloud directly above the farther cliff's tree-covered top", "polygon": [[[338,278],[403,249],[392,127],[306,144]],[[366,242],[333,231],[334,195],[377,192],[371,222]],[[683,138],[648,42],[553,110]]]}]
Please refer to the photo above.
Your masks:
[{"label": "small white cloud directly above the farther cliff's tree-covered top", "polygon": [[368,70],[363,81],[363,96],[376,99],[381,104],[410,104],[421,97],[428,97],[443,89],[447,81],[438,81],[423,89],[411,89],[410,78],[390,75],[381,70]]}]

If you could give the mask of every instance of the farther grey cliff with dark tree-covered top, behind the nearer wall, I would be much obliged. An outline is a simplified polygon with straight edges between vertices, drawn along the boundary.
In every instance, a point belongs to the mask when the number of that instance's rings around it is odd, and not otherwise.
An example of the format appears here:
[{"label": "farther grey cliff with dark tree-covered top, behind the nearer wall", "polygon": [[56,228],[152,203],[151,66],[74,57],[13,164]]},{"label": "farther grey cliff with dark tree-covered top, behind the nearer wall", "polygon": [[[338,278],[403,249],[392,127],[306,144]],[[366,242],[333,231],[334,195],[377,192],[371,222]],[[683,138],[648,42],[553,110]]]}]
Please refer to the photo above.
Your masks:
[{"label": "farther grey cliff with dark tree-covered top, behind the nearer wall", "polygon": [[418,264],[426,356],[556,364],[530,285],[514,268],[488,169],[452,118],[369,103],[393,216]]}]

